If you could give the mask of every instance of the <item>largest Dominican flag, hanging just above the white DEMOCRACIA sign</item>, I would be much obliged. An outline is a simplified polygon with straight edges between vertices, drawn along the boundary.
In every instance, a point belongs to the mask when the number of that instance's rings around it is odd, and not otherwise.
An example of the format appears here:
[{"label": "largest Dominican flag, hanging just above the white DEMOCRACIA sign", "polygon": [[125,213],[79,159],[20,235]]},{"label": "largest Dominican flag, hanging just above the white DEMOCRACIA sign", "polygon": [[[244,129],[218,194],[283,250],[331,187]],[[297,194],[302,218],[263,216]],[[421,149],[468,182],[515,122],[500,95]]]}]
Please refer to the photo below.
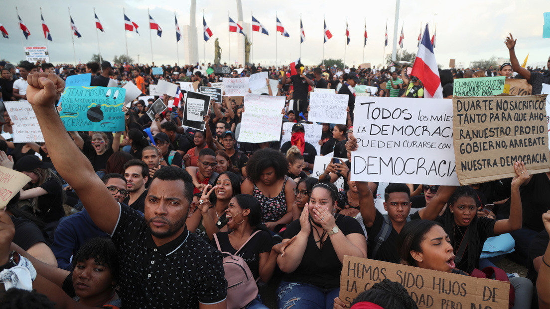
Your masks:
[{"label": "largest Dominican flag, hanging just above the white DEMOCRACIA sign", "polygon": [[424,84],[425,98],[443,98],[436,55],[433,53],[427,24],[410,75],[418,77]]}]

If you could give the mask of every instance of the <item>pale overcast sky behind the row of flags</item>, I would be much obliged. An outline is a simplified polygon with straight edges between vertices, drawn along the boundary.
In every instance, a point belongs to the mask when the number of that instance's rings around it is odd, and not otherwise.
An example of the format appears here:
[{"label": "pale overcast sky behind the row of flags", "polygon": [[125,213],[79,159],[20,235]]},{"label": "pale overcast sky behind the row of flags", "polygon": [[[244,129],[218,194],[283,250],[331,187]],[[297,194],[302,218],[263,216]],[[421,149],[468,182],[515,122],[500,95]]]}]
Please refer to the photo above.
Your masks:
[{"label": "pale overcast sky behind the row of flags", "polygon": [[[46,42],[40,20],[40,7],[48,25],[53,42],[48,41],[52,63],[74,63],[72,30],[69,25],[70,13],[81,33],[74,38],[76,61],[86,63],[97,53],[98,44],[93,9],[100,18],[105,32],[99,33],[101,53],[107,60],[114,55],[126,53],[124,43],[123,8],[127,16],[139,25],[140,35],[127,33],[130,57],[140,63],[151,63],[151,45],[147,9],[163,29],[162,37],[152,31],[152,45],[155,63],[168,64],[177,61],[174,9],[180,29],[189,25],[190,0],[95,0],[95,1],[37,1],[0,0],[0,24],[9,33],[9,38],[0,37],[0,58],[18,63],[24,59],[23,46],[43,46]],[[326,14],[328,29],[332,39],[324,44],[324,58],[344,59],[345,23],[348,19],[351,42],[346,47],[346,64],[359,65],[382,63],[384,53],[384,29],[388,23],[389,46],[386,53],[392,52],[395,0],[389,1],[254,1],[242,0],[243,19],[250,23],[250,13],[270,32],[269,36],[254,33],[254,62],[274,64],[276,61],[276,12],[279,20],[290,34],[289,38],[278,36],[278,63],[287,64],[300,56],[300,13],[305,29],[306,40],[301,44],[301,58],[306,65],[318,64],[323,54],[323,15]],[[28,40],[19,29],[15,7],[29,28]],[[222,62],[229,62],[228,48],[234,62],[237,55],[237,33],[228,34],[228,11],[237,21],[236,2],[230,0],[200,0],[196,7],[196,26],[199,38],[199,58],[204,61],[202,40],[202,11],[213,32],[213,38],[206,42],[206,58],[213,62],[214,38],[219,38],[223,49]],[[436,59],[443,68],[449,59],[469,65],[470,61],[488,59],[492,56],[508,58],[504,46],[505,37],[511,32],[518,38],[516,54],[523,61],[527,53],[527,65],[546,65],[550,55],[550,39],[542,38],[543,13],[550,12],[550,1],[496,1],[496,0],[402,0],[399,10],[399,27],[404,25],[404,49],[416,53],[420,26],[429,23],[432,34],[437,24]],[[363,32],[366,27],[368,41],[363,48]],[[21,43],[23,38],[23,44]],[[229,41],[230,40],[230,41]],[[229,44],[230,42],[230,44]],[[180,63],[184,60],[184,44],[179,41]],[[399,51],[399,48],[398,48]],[[363,56],[364,53],[364,56]],[[363,58],[364,57],[364,58]]]}]

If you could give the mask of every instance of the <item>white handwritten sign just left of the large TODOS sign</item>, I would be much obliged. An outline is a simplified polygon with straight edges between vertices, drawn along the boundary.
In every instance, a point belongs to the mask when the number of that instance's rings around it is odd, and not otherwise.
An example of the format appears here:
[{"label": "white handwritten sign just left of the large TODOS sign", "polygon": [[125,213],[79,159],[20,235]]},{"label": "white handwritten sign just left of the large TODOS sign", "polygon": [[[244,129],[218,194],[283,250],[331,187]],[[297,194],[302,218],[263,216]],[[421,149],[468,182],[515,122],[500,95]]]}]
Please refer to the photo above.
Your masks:
[{"label": "white handwritten sign just left of the large TODOS sign", "polygon": [[323,92],[310,93],[310,111],[307,120],[345,125],[348,95]]}]

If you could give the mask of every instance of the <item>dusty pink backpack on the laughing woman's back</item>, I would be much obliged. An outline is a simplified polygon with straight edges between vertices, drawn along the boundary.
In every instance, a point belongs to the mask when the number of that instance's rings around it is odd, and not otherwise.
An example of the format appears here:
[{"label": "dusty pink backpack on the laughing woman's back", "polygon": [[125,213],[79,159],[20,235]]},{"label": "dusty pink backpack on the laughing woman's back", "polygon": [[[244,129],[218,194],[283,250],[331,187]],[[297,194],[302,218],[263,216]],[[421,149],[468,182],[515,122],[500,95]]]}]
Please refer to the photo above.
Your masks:
[{"label": "dusty pink backpack on the laughing woman's back", "polygon": [[226,272],[225,277],[227,280],[227,309],[243,308],[258,296],[256,280],[254,280],[246,262],[237,254],[259,232],[252,233],[241,248],[235,252],[235,255],[222,251],[218,237],[214,234],[216,246],[223,254],[223,270]]}]

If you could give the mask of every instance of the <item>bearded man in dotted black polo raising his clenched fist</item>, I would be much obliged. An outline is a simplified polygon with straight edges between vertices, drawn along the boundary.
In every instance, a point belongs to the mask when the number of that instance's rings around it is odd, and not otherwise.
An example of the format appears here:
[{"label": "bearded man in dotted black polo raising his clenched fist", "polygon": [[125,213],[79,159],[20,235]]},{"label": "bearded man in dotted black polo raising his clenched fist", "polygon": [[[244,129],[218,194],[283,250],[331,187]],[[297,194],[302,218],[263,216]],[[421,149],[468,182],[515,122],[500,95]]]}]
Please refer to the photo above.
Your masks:
[{"label": "bearded man in dotted black polo raising his clenched fist", "polygon": [[54,74],[30,75],[32,104],[59,175],[74,188],[90,217],[111,234],[119,256],[118,285],[125,308],[226,309],[222,254],[185,226],[193,183],[182,168],[155,173],[145,216],[115,201],[84,154],[64,132],[54,102],[64,82]]}]

